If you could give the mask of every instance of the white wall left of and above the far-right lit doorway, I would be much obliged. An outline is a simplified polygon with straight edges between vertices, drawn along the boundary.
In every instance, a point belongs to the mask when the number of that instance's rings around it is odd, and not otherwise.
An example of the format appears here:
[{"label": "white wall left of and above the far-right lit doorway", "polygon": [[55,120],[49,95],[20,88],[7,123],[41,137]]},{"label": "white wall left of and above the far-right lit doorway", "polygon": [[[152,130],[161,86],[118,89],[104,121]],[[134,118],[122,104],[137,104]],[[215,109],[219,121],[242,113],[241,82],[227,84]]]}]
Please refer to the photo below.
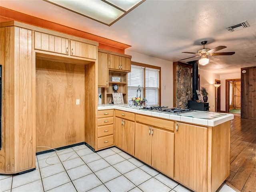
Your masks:
[{"label": "white wall left of and above the far-right lit doorway", "polygon": [[226,111],[226,79],[240,79],[240,73],[220,75],[220,110]]}]

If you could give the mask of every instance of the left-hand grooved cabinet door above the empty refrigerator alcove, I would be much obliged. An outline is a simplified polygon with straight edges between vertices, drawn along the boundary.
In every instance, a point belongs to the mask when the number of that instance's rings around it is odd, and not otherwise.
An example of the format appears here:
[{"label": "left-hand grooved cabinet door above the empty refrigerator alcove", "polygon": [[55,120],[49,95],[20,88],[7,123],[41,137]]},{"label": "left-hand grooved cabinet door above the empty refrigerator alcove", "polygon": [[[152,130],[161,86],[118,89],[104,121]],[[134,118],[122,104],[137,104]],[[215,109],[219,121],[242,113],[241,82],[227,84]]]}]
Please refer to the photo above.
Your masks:
[{"label": "left-hand grooved cabinet door above the empty refrigerator alcove", "polygon": [[68,55],[68,39],[35,31],[34,48]]}]

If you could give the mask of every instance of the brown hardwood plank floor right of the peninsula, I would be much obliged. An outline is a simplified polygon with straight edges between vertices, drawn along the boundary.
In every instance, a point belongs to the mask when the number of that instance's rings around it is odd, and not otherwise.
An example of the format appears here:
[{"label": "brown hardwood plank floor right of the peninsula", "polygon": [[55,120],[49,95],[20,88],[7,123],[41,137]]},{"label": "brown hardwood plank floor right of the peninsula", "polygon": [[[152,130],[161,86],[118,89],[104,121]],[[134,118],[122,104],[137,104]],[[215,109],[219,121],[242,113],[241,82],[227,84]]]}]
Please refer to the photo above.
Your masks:
[{"label": "brown hardwood plank floor right of the peninsula", "polygon": [[230,176],[226,183],[241,192],[256,192],[256,120],[231,121]]}]

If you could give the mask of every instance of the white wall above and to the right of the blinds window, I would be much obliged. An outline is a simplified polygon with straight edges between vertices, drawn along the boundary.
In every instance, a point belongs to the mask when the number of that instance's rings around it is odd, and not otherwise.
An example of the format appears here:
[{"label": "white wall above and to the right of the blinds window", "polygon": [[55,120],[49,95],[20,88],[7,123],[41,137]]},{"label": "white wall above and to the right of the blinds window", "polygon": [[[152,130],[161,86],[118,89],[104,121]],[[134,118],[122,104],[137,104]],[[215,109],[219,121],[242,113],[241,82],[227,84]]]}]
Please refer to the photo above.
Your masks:
[{"label": "white wall above and to the right of the blinds window", "polygon": [[[132,61],[161,67],[161,106],[173,106],[172,62],[125,50],[132,56]],[[165,89],[164,89],[165,87]]]}]

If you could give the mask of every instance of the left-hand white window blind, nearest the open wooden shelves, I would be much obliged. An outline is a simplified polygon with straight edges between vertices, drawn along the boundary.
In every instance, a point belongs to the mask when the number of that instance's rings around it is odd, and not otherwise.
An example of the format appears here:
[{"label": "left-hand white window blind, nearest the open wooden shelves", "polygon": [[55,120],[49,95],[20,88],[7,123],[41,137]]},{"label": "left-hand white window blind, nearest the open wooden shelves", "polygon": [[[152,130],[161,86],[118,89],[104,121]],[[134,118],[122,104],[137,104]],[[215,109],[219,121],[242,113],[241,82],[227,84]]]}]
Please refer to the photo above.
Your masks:
[{"label": "left-hand white window blind, nearest the open wooden shelves", "polygon": [[[131,66],[131,72],[128,73],[128,103],[133,97],[137,97],[138,86],[140,85],[141,96],[144,93],[144,67]],[[138,97],[140,92],[138,92]]]}]

